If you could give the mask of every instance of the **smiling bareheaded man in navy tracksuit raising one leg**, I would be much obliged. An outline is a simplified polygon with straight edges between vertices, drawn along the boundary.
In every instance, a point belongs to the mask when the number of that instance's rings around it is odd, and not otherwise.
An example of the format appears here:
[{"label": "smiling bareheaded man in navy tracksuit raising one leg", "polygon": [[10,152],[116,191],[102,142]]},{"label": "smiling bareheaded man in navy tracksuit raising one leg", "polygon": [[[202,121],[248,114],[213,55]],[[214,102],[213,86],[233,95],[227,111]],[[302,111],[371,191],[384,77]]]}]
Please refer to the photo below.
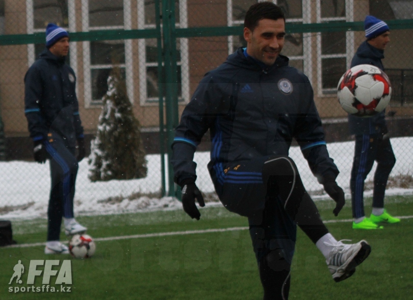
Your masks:
[{"label": "smiling bareheaded man in navy tracksuit raising one leg", "polygon": [[312,172],[337,202],[337,215],[345,203],[335,182],[339,171],[328,155],[308,78],[279,54],[285,34],[278,6],[251,6],[244,20],[247,47],[204,76],[172,145],[184,210],[199,220],[195,199],[204,203],[193,157],[210,130],[210,175],[223,205],[248,217],[264,299],[288,298],[296,225],[323,253],[335,281],[350,277],[370,253],[366,241],[344,244],[328,232],[288,156],[295,138]]}]

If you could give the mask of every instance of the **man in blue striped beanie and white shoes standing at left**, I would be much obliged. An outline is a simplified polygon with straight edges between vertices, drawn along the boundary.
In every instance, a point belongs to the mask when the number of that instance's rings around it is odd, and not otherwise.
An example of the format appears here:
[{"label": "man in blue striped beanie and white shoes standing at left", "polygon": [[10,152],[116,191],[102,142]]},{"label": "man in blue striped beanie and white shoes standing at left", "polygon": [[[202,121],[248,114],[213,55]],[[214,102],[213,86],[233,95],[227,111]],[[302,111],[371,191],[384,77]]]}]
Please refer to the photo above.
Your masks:
[{"label": "man in blue striped beanie and white shoes standing at left", "polygon": [[39,163],[49,159],[50,163],[45,254],[69,253],[67,246],[60,242],[62,219],[67,235],[87,229],[76,222],[73,213],[78,162],[86,151],[75,92],[76,77],[65,63],[68,52],[68,33],[55,24],[48,24],[46,48],[24,76],[24,114],[34,143],[34,159]]}]

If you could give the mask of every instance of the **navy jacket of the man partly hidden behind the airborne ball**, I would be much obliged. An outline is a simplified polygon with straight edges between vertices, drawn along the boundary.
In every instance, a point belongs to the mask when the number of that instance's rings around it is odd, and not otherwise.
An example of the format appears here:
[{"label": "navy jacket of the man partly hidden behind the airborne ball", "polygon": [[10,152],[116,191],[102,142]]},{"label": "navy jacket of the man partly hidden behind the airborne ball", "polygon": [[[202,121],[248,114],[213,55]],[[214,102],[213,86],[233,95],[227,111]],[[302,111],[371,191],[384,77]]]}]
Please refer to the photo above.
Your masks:
[{"label": "navy jacket of the man partly hidden behind the airborne ball", "polygon": [[[384,51],[379,50],[367,41],[364,41],[358,47],[353,59],[351,60],[351,67],[358,65],[373,65],[384,71],[381,60],[384,58]],[[381,113],[368,118],[360,118],[348,115],[348,125],[350,134],[376,134],[385,126],[385,110]]]}]

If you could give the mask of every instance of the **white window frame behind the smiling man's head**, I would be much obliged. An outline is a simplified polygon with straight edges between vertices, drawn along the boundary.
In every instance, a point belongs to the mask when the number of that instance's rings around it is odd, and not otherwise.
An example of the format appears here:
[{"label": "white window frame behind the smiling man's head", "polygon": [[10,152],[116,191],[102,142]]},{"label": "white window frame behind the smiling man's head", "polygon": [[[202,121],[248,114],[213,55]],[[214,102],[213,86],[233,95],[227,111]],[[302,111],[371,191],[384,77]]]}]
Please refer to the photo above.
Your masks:
[{"label": "white window frame behind the smiling man's head", "polygon": [[[262,2],[262,1],[258,1]],[[277,0],[272,0],[277,4]],[[302,22],[303,24],[311,23],[311,0],[302,0],[302,18],[289,18],[286,23]],[[233,0],[227,0],[227,24],[228,26],[239,26],[244,24],[244,20],[233,20]],[[303,33],[303,54],[302,56],[289,56],[290,60],[302,60],[303,71],[312,82],[312,53],[311,53],[311,33]],[[234,41],[233,36],[228,36],[228,55],[233,53]]]}]

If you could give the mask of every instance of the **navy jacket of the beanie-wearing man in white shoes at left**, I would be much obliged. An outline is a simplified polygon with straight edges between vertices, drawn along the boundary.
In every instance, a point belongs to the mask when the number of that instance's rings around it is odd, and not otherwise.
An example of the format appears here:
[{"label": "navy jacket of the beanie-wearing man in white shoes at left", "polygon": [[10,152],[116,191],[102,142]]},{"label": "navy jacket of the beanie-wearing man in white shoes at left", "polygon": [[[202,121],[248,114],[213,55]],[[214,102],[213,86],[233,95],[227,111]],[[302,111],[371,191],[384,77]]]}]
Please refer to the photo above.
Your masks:
[{"label": "navy jacket of the beanie-wearing man in white shoes at left", "polygon": [[74,147],[83,137],[75,86],[73,69],[48,49],[29,68],[24,76],[24,114],[34,141],[51,133]]}]

